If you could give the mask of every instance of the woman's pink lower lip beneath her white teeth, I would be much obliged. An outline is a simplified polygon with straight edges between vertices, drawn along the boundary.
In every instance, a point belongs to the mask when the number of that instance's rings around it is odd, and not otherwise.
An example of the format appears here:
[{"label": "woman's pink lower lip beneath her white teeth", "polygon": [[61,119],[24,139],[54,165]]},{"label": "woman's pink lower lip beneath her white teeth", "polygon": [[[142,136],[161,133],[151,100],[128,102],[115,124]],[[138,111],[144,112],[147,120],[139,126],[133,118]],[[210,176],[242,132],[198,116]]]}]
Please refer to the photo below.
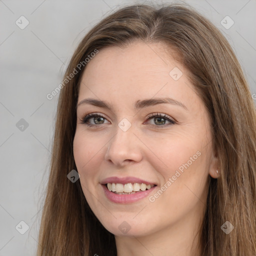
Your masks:
[{"label": "woman's pink lower lip beneath her white teeth", "polygon": [[[102,185],[102,184],[101,184]],[[145,191],[139,191],[133,194],[116,194],[112,191],[109,191],[105,185],[102,185],[105,196],[112,202],[116,203],[129,203],[138,201],[144,197],[146,197],[151,191],[155,189],[156,186],[151,187]]]}]

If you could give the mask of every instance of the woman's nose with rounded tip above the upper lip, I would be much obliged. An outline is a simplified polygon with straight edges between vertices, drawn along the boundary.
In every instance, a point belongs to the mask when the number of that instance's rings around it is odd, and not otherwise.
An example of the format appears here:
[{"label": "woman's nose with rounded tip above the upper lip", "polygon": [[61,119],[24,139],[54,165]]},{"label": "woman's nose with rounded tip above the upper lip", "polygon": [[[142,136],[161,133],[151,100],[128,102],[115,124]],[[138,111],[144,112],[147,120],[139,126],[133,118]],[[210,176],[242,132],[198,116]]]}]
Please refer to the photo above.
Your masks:
[{"label": "woman's nose with rounded tip above the upper lip", "polygon": [[142,159],[141,141],[133,132],[132,125],[126,131],[116,125],[116,132],[108,142],[104,159],[118,167],[129,162],[139,162]]}]

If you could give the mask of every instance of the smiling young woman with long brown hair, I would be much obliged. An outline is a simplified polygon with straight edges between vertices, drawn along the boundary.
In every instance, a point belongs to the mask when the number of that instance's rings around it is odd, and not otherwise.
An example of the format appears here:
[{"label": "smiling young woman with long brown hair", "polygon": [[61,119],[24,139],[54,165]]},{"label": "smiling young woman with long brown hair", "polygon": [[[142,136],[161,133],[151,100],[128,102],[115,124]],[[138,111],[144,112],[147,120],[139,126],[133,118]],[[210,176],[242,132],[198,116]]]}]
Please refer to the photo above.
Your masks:
[{"label": "smiling young woman with long brown hair", "polygon": [[256,111],[210,21],[123,7],[63,81],[37,256],[256,254]]}]

